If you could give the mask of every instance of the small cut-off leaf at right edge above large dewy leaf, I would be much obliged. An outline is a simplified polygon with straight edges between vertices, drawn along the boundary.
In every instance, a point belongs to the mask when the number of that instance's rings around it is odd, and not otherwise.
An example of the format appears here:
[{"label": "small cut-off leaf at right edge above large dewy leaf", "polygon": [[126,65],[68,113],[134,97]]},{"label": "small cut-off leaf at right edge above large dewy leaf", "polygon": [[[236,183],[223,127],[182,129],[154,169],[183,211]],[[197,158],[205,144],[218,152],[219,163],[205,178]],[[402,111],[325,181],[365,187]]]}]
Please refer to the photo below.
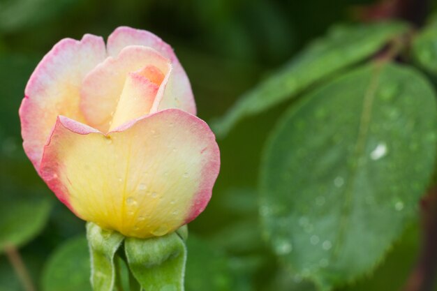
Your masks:
[{"label": "small cut-off leaf at right edge above large dewy leaf", "polygon": [[437,21],[419,31],[413,39],[411,54],[416,63],[428,73],[437,75]]}]

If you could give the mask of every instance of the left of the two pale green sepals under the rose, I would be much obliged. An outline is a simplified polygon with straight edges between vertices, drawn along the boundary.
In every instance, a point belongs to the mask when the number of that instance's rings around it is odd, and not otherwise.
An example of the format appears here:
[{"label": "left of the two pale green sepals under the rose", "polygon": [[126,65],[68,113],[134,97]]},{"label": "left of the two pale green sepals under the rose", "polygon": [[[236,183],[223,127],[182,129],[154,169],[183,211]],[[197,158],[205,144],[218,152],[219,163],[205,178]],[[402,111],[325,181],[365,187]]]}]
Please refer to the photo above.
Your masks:
[{"label": "left of the two pale green sepals under the rose", "polygon": [[91,285],[94,291],[112,291],[115,283],[114,255],[124,236],[87,223],[87,239],[91,255]]}]

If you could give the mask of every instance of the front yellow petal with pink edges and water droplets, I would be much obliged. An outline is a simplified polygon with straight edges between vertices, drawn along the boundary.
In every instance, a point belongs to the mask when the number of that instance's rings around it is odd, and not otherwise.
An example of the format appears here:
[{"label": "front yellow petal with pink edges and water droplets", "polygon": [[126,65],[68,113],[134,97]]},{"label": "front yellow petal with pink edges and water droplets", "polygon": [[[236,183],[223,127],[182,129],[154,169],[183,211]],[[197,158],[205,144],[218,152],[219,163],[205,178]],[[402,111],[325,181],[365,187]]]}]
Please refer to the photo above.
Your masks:
[{"label": "front yellow petal with pink edges and water droplets", "polygon": [[198,216],[219,167],[207,124],[170,109],[108,135],[59,117],[40,174],[80,218],[145,238],[177,230]]}]

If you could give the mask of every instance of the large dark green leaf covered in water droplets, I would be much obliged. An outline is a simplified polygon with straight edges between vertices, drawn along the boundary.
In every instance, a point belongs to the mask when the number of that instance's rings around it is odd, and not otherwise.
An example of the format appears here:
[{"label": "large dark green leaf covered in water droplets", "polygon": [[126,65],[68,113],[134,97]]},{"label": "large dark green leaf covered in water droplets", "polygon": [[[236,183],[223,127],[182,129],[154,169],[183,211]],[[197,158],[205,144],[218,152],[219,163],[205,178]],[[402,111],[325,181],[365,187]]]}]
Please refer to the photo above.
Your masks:
[{"label": "large dark green leaf covered in water droplets", "polygon": [[369,273],[416,214],[436,158],[435,98],[412,68],[371,64],[306,96],[273,131],[262,225],[321,290]]}]

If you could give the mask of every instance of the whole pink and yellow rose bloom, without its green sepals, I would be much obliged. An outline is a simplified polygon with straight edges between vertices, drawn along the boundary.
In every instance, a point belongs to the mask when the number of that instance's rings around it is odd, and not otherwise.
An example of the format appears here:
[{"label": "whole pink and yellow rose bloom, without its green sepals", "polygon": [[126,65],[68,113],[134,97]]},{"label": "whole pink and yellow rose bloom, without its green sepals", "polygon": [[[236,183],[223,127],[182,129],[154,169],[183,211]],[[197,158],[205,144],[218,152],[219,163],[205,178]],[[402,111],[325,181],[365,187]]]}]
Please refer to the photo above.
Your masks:
[{"label": "whole pink and yellow rose bloom, without its green sepals", "polygon": [[61,202],[128,237],[161,236],[206,207],[220,157],[188,77],[153,33],[119,27],[54,45],[25,89],[24,151]]}]

